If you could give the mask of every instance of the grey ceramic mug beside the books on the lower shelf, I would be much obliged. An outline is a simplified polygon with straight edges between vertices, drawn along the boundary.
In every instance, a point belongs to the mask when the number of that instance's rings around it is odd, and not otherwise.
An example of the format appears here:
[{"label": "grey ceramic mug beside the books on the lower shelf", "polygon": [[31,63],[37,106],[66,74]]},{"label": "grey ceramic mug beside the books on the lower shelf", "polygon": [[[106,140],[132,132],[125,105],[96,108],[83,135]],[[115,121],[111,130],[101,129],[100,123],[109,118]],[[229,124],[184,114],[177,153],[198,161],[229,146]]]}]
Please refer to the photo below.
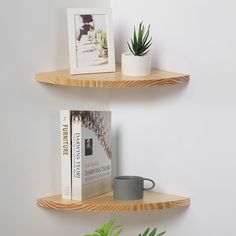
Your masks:
[{"label": "grey ceramic mug beside the books on the lower shelf", "polygon": [[[144,187],[144,181],[150,181],[150,188]],[[155,182],[140,176],[117,176],[113,179],[113,196],[119,200],[137,200],[143,198],[144,190],[151,190]]]}]

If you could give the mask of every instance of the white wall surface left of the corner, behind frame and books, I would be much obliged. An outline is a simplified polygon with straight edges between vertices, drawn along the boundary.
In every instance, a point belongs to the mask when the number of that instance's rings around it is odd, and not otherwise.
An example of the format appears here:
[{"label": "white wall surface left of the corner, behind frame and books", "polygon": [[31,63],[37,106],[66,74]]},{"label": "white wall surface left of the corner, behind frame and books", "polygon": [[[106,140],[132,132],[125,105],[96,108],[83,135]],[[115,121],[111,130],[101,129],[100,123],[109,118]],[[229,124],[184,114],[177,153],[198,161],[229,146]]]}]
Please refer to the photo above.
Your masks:
[{"label": "white wall surface left of the corner, behind frame and books", "polygon": [[109,91],[43,85],[35,73],[68,67],[67,7],[95,0],[0,1],[0,235],[84,235],[106,215],[45,210],[60,192],[60,109],[109,109]]}]

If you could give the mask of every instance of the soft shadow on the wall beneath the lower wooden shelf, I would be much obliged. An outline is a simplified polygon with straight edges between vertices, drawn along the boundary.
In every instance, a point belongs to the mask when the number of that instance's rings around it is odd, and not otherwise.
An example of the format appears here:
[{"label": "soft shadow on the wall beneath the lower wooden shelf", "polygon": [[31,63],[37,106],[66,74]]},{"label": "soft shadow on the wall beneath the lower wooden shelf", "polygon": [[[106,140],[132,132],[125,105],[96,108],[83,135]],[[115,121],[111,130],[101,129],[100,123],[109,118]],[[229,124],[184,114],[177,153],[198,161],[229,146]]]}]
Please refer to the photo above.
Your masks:
[{"label": "soft shadow on the wall beneath the lower wooden shelf", "polygon": [[[104,224],[108,219],[115,217],[116,223],[124,228],[124,235],[137,235],[147,227],[157,226],[159,231],[173,230],[173,225],[182,225],[189,219],[189,207],[175,209],[163,209],[151,212],[122,212],[122,213],[99,213],[99,212],[77,212],[77,211],[51,211],[41,209],[45,217],[57,222],[57,226],[63,228],[66,225],[71,232],[78,231],[78,235],[85,235]],[[89,222],[89,223],[88,223]],[[137,234],[130,234],[135,232]],[[122,235],[123,235],[122,234]]]}]

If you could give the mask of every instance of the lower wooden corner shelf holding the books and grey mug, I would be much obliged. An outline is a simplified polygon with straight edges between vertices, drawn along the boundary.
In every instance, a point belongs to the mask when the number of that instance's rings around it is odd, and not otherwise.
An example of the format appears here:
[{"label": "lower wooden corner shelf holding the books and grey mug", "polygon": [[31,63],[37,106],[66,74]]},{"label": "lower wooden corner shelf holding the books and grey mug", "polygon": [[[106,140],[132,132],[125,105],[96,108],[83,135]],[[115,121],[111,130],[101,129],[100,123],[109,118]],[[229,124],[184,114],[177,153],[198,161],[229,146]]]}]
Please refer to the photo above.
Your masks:
[{"label": "lower wooden corner shelf holding the books and grey mug", "polygon": [[106,193],[86,201],[62,199],[60,195],[37,200],[41,207],[56,210],[74,210],[81,212],[141,212],[157,211],[190,205],[190,198],[157,192],[145,192],[142,200],[115,200],[112,193]]}]

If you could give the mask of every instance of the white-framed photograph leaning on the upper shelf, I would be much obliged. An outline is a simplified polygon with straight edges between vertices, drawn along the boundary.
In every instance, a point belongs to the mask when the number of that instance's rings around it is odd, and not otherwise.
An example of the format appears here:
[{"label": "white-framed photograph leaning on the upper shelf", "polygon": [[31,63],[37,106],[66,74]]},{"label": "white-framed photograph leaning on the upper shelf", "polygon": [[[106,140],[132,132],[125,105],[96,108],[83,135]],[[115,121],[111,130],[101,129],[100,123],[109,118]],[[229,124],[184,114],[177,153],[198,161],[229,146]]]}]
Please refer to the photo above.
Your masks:
[{"label": "white-framed photograph leaning on the upper shelf", "polygon": [[68,8],[71,74],[115,71],[111,9]]}]

